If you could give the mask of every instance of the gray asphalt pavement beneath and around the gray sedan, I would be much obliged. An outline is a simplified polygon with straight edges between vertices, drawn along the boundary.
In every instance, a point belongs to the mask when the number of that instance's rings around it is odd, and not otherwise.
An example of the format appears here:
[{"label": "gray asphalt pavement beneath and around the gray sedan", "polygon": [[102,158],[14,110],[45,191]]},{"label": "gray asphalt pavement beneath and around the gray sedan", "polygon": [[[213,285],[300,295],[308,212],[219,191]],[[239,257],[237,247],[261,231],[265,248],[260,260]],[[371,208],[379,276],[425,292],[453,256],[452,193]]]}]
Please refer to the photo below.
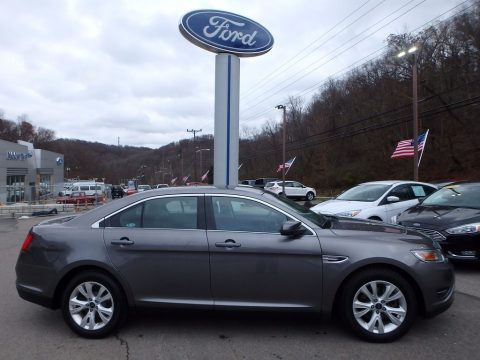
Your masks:
[{"label": "gray asphalt pavement beneath and around the gray sedan", "polygon": [[478,359],[480,265],[458,265],[452,307],[418,319],[390,344],[371,344],[312,314],[158,311],[135,313],[115,336],[85,340],[60,311],[20,299],[15,262],[41,218],[0,219],[0,359]]}]

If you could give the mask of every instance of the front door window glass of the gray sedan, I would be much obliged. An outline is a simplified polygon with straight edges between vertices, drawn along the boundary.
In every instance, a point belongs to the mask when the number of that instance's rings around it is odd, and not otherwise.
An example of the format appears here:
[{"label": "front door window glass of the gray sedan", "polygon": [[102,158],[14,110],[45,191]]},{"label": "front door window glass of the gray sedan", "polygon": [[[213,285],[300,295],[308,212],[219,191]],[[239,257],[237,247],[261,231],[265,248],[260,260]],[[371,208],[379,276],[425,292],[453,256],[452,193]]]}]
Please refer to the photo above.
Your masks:
[{"label": "front door window glass of the gray sedan", "polygon": [[287,216],[259,202],[212,197],[216,230],[279,233]]}]

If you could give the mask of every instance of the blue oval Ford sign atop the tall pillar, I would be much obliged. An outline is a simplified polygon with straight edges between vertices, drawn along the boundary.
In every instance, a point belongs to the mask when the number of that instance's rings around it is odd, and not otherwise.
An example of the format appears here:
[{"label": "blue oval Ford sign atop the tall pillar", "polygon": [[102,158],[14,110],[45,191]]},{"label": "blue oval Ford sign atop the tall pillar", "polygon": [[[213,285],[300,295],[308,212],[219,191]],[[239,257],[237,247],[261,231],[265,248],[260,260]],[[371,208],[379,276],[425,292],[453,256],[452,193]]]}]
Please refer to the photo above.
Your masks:
[{"label": "blue oval Ford sign atop the tall pillar", "polygon": [[191,11],[182,18],[179,27],[189,41],[215,53],[257,56],[273,46],[272,35],[262,25],[225,11]]}]

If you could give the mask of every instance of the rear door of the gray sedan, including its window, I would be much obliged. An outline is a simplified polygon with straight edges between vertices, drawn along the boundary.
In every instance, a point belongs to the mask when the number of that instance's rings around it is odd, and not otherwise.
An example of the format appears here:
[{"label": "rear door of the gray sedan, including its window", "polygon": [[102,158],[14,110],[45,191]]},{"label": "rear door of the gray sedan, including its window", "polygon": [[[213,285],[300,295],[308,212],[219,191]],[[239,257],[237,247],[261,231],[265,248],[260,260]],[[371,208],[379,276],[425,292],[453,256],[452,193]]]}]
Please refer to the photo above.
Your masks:
[{"label": "rear door of the gray sedan, including its window", "polygon": [[114,266],[139,304],[212,305],[203,196],[147,199],[105,220]]}]

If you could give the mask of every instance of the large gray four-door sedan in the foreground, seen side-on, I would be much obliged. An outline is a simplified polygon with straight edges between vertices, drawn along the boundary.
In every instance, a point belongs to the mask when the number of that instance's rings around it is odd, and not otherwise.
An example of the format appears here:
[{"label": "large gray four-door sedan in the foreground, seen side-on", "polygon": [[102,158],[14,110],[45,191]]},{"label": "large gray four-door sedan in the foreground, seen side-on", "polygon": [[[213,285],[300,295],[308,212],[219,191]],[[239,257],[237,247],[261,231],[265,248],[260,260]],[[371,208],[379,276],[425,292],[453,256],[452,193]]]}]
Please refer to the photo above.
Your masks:
[{"label": "large gray four-door sedan in the foreground, seen side-on", "polygon": [[340,314],[369,341],[403,335],[453,301],[438,245],[404,227],[315,214],[250,187],[146,191],[44,221],[17,261],[17,290],[104,337],[128,307]]}]

